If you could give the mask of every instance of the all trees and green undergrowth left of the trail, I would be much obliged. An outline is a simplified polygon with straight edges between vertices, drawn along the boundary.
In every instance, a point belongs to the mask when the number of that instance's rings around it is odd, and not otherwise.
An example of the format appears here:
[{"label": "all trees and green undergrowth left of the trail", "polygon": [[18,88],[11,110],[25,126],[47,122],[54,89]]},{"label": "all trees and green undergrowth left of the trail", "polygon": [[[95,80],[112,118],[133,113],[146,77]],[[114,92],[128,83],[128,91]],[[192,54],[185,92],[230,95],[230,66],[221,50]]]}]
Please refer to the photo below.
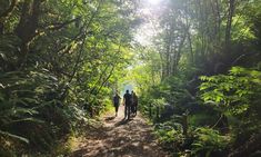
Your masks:
[{"label": "all trees and green undergrowth left of the trail", "polygon": [[132,56],[135,2],[0,3],[0,156],[49,151],[111,104]]}]

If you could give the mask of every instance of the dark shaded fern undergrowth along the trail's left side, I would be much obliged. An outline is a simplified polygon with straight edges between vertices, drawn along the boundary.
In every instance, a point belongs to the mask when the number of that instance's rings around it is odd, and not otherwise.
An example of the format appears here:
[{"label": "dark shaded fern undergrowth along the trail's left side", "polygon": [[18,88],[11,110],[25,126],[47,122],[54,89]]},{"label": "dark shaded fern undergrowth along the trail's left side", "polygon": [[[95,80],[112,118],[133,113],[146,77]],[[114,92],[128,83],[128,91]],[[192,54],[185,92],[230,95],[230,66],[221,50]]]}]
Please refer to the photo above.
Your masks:
[{"label": "dark shaded fern undergrowth along the trail's left side", "polygon": [[2,153],[11,153],[11,147],[50,150],[83,117],[79,109],[59,100],[58,79],[46,69],[1,73],[0,82]]}]

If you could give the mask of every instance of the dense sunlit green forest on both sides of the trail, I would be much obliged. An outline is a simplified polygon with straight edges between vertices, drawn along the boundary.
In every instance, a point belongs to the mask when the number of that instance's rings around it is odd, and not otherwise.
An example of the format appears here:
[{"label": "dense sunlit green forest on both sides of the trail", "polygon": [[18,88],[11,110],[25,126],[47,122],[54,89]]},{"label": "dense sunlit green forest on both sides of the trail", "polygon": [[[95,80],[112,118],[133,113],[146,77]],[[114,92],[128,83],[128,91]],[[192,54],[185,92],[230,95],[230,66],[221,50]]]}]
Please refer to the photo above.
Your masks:
[{"label": "dense sunlit green forest on both sides of the trail", "polygon": [[260,156],[261,1],[0,0],[0,156],[52,154],[126,84],[172,156]]}]

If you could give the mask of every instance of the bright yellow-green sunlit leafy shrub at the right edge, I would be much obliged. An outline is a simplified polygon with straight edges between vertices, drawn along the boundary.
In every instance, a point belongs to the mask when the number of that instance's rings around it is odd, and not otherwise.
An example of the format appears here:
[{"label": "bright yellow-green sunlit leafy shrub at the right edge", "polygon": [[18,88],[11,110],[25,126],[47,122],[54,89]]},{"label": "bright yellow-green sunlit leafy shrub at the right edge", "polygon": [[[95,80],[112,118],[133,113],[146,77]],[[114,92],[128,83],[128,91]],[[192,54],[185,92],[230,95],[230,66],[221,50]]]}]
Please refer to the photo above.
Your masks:
[{"label": "bright yellow-green sunlit leafy shrub at the right edge", "polygon": [[260,101],[261,72],[258,70],[233,67],[227,76],[201,77],[201,80],[203,101],[232,115],[243,115]]}]

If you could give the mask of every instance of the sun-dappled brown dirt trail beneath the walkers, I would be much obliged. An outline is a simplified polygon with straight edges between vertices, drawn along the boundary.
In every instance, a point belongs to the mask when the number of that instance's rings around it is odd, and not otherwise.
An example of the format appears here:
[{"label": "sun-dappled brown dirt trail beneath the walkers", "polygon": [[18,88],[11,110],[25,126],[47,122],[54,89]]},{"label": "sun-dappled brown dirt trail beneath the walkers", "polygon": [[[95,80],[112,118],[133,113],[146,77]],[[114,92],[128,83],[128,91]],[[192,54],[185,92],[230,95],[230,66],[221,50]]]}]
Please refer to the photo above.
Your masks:
[{"label": "sun-dappled brown dirt trail beneath the walkers", "polygon": [[151,135],[151,126],[139,114],[123,120],[123,111],[120,106],[118,117],[107,114],[103,126],[86,137],[71,157],[168,157]]}]

